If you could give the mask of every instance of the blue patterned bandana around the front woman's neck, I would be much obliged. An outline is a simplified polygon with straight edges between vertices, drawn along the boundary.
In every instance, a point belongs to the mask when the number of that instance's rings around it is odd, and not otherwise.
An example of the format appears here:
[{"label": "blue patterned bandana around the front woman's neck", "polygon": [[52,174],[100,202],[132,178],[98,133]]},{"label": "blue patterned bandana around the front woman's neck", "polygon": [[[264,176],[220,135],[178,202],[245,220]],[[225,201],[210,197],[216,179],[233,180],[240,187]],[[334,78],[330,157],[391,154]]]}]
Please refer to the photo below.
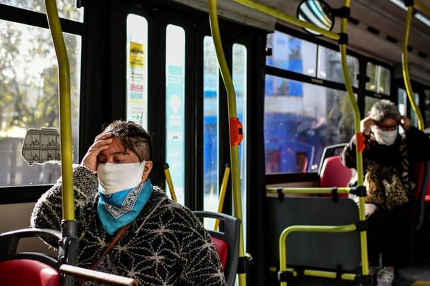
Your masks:
[{"label": "blue patterned bandana around the front woman's neck", "polygon": [[105,195],[98,186],[100,195],[97,204],[98,217],[103,229],[114,235],[121,227],[129,224],[137,215],[153,193],[153,185],[147,179],[143,186],[137,186],[121,192]]}]

